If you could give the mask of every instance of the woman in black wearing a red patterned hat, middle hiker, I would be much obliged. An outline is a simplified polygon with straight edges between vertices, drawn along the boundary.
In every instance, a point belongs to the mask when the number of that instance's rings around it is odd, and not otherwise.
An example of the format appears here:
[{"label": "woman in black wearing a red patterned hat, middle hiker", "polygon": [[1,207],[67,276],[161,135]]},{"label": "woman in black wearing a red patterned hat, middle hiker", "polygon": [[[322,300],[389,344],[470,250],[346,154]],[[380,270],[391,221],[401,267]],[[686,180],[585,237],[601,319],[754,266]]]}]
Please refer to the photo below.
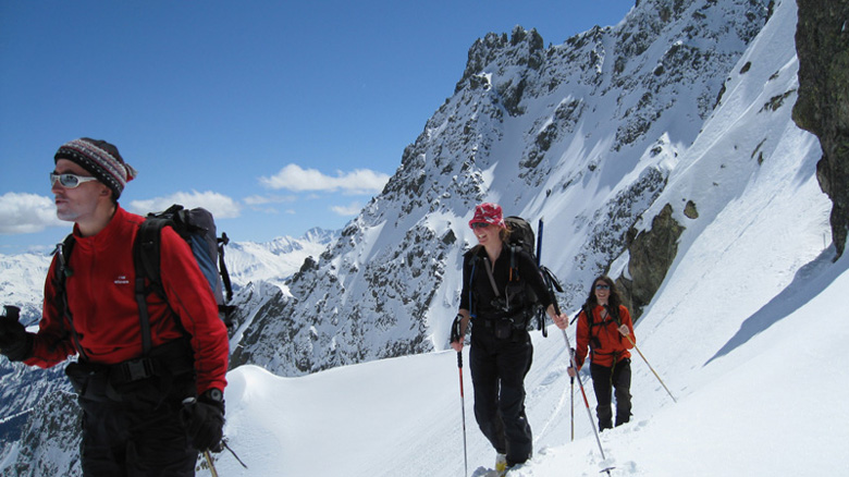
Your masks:
[{"label": "woman in black wearing a red patterned hat, middle hiker", "polygon": [[455,320],[458,330],[451,346],[457,352],[463,350],[471,322],[475,418],[495,448],[496,469],[503,472],[526,462],[532,453],[525,413],[525,376],[530,370],[533,346],[525,321],[529,303],[524,288],[537,294],[549,316],[554,318],[555,311],[533,258],[518,249],[510,252],[506,245],[509,231],[497,204],[477,206],[469,227],[478,245],[464,255],[463,293]]}]

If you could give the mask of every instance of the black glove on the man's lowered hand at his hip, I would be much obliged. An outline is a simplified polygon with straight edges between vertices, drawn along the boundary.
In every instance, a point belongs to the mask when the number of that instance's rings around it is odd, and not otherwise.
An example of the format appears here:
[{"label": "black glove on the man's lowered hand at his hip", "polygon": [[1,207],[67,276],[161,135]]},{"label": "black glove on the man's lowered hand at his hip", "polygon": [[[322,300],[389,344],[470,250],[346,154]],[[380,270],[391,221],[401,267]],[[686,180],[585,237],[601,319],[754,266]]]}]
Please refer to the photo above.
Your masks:
[{"label": "black glove on the man's lowered hand at his hip", "polygon": [[196,400],[183,401],[180,417],[188,435],[188,442],[198,451],[221,452],[224,437],[224,397],[221,390],[212,388]]}]

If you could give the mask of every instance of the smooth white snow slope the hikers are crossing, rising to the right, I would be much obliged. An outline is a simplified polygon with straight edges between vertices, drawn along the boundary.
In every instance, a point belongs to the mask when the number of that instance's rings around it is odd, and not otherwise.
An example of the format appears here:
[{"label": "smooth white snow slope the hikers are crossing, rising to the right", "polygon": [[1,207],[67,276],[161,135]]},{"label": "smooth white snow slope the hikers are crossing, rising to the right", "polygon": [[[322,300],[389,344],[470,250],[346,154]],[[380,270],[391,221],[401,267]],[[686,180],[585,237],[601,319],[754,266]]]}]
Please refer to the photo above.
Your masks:
[{"label": "smooth white snow slope the hikers are crossing, rising to the right", "polygon": [[[635,352],[635,415],[601,436],[602,460],[577,383],[570,393],[562,333],[534,332],[526,386],[536,455],[512,476],[594,476],[608,466],[615,476],[652,477],[849,469],[849,370],[841,359],[849,321],[839,305],[849,257],[834,262],[827,243],[819,144],[789,121],[797,64],[787,27],[795,15],[793,2],[776,5],[652,206],[696,199],[700,211],[698,220],[679,216],[687,230],[678,256],[636,326],[640,351],[678,402]],[[752,90],[756,84],[762,89]],[[777,97],[788,99],[768,108]],[[774,146],[763,151],[760,144]],[[694,178],[704,176],[713,186],[698,189],[704,181]],[[568,333],[574,340],[574,328]],[[475,424],[468,369],[463,376],[468,474],[482,477],[494,451]],[[225,431],[249,468],[225,453],[217,462],[222,475],[464,475],[451,351],[300,378],[243,366],[229,379]],[[592,387],[582,379],[594,415]]]}]

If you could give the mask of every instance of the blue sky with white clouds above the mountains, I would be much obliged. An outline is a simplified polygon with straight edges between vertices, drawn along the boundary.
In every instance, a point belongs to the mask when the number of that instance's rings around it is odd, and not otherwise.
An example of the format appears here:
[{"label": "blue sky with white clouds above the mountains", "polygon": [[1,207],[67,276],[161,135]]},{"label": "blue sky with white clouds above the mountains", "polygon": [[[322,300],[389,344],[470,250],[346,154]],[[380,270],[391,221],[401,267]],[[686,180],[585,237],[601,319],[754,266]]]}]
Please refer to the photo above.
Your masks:
[{"label": "blue sky with white clouds above the mountains", "polygon": [[489,32],[547,46],[633,0],[0,2],[0,254],[42,249],[63,143],[118,146],[133,211],[205,205],[236,241],[339,229]]}]

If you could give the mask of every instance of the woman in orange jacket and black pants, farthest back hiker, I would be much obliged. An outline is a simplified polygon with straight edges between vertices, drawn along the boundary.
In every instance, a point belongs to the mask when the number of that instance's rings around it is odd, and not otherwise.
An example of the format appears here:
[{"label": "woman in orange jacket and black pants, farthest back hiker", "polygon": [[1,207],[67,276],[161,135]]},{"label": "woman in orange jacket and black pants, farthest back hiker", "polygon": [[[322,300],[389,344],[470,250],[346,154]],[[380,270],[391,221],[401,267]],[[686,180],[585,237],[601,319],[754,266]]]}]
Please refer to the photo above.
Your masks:
[{"label": "woman in orange jacket and black pants, farthest back hiker", "polygon": [[[558,327],[566,322],[555,320]],[[630,339],[628,339],[630,337]],[[610,277],[601,276],[593,280],[587,302],[578,315],[577,350],[575,363],[580,369],[590,353],[590,375],[595,390],[595,415],[599,429],[613,428],[613,390],[616,395],[616,426],[625,424],[631,417],[631,353],[635,346],[631,315],[622,304],[616,285]],[[576,370],[568,369],[569,376]]]}]

